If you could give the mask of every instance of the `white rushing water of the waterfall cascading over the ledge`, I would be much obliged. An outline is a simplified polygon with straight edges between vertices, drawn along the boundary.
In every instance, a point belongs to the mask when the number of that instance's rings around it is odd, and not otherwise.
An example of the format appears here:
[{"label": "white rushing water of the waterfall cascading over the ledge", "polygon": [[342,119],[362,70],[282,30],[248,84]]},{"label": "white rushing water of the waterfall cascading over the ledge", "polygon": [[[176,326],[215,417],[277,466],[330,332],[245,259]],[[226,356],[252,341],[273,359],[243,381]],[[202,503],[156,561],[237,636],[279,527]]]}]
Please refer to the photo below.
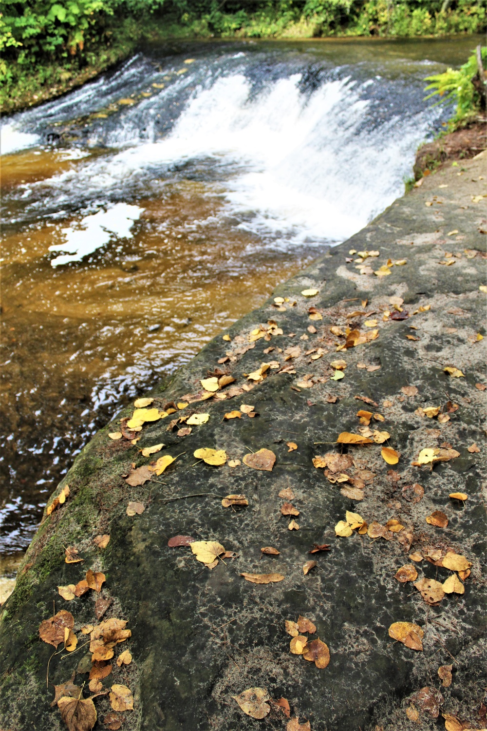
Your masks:
[{"label": "white rushing water of the waterfall cascading over the ledge", "polygon": [[[220,177],[218,190],[226,200],[225,213],[239,216],[240,226],[258,233],[267,245],[344,240],[404,192],[415,149],[440,111],[423,108],[371,124],[370,102],[363,97],[374,79],[325,80],[304,94],[301,77],[280,78],[253,95],[243,73],[219,76],[192,92],[169,135],[140,142],[140,115],[152,129],[164,95],[175,96],[172,86],[128,110],[109,135],[110,145],[118,147],[115,154],[31,188],[38,186],[47,195],[50,189],[59,206],[88,189],[109,201],[116,194],[120,201],[120,192],[129,196],[141,180],[147,178],[150,186],[153,170],[204,160],[208,167],[223,170],[226,179]],[[185,83],[187,79],[178,80],[176,86]],[[101,210],[110,210],[110,202]],[[66,250],[72,254],[66,261],[72,261],[76,250],[69,231],[66,237]],[[102,235],[99,240],[106,243]],[[83,247],[77,258],[82,255]]]}]

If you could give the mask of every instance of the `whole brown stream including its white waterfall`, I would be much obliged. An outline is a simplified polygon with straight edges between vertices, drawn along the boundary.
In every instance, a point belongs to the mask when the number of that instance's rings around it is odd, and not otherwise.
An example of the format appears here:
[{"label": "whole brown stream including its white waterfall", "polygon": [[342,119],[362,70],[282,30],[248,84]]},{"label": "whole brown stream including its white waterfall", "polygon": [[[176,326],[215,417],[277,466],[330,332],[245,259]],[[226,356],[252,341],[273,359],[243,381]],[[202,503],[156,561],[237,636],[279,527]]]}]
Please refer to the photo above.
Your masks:
[{"label": "whole brown stream including its white waterfall", "polygon": [[167,42],[2,126],[0,554],[120,405],[404,192],[476,38]]}]

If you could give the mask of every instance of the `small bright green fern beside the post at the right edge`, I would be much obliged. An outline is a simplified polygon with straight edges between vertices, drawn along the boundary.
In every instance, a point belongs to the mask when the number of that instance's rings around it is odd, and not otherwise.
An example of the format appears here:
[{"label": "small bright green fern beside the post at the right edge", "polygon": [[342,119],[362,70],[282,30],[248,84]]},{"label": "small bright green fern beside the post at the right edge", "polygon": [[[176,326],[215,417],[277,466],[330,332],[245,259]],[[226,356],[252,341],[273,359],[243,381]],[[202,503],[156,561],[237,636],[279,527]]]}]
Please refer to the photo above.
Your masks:
[{"label": "small bright green fern beside the post at the right edge", "polygon": [[486,108],[486,74],[483,66],[487,61],[487,48],[473,51],[466,64],[458,70],[447,69],[442,74],[426,77],[430,81],[425,91],[433,89],[426,99],[440,96],[438,104],[453,102],[455,114],[450,119],[449,131],[468,124]]}]

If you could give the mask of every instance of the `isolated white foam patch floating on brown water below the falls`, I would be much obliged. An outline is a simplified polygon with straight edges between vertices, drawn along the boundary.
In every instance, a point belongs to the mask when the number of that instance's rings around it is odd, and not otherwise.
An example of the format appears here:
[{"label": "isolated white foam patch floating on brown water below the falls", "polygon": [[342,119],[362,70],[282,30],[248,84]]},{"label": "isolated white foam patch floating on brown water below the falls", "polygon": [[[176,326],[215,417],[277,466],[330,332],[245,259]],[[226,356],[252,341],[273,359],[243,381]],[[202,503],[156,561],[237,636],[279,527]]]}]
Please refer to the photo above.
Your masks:
[{"label": "isolated white foam patch floating on brown water below the falls", "polygon": [[134,221],[139,219],[144,211],[138,205],[127,203],[116,203],[107,208],[85,216],[81,219],[77,228],[64,228],[61,232],[66,236],[66,242],[55,244],[49,247],[49,251],[65,251],[51,261],[53,267],[58,267],[68,262],[79,262],[87,254],[99,249],[110,241],[112,235],[118,238],[131,238],[131,227]]}]

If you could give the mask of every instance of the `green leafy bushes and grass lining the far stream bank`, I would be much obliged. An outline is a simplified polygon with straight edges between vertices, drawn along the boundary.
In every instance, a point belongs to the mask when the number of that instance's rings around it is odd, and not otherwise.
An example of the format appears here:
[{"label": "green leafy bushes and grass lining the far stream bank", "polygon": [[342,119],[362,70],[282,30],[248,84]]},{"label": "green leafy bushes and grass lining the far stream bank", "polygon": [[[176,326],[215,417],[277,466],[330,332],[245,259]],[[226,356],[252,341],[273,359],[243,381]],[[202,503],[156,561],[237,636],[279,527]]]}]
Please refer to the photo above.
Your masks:
[{"label": "green leafy bushes and grass lining the far stream bank", "polygon": [[128,56],[141,37],[475,33],[483,0],[3,0],[0,102],[38,103]]}]

